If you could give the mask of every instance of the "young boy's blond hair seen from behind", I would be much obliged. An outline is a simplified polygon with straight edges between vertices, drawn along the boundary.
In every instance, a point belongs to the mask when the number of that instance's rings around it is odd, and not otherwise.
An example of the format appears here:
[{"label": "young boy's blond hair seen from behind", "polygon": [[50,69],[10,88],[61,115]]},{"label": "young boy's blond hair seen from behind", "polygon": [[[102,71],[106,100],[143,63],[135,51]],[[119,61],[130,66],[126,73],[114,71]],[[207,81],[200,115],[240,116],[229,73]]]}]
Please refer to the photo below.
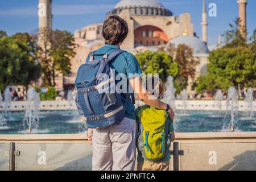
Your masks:
[{"label": "young boy's blond hair seen from behind", "polygon": [[[157,81],[157,83],[156,83]],[[159,77],[148,77],[147,81],[147,90],[150,92],[148,86],[151,85],[152,94],[158,95],[159,99],[163,98],[164,92],[166,91],[166,86],[164,85],[163,81]]]}]

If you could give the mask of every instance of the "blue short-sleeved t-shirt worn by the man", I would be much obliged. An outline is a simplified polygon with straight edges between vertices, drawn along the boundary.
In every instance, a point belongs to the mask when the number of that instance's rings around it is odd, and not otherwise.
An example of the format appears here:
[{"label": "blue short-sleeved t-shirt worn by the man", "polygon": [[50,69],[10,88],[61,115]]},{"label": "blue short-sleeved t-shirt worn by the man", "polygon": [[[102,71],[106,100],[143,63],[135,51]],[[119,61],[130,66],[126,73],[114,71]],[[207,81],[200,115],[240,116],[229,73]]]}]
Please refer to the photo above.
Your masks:
[{"label": "blue short-sleeved t-shirt worn by the man", "polygon": [[[101,47],[100,49],[95,51],[95,54],[108,53],[109,55],[116,49],[119,49],[119,47],[110,45],[110,44],[105,44],[104,47]],[[101,59],[101,58],[102,56],[94,56],[94,60]],[[110,65],[110,68],[115,69],[115,76],[117,76],[118,73],[123,73],[129,79],[129,78],[135,77],[136,75],[137,76],[142,75],[142,71],[141,71],[141,68],[139,67],[139,63],[137,59],[132,53],[129,53],[129,52],[121,53],[119,56],[115,57],[115,59],[113,59],[109,65]],[[119,81],[117,80],[116,84]],[[127,90],[129,89],[128,85],[129,85],[129,80],[127,80]],[[125,117],[130,119],[136,119],[135,113],[134,113],[135,107],[133,105],[133,102],[131,101],[129,93],[127,94],[127,97],[128,99],[126,101],[126,94],[121,94],[121,100],[123,102],[123,105],[125,105]]]}]

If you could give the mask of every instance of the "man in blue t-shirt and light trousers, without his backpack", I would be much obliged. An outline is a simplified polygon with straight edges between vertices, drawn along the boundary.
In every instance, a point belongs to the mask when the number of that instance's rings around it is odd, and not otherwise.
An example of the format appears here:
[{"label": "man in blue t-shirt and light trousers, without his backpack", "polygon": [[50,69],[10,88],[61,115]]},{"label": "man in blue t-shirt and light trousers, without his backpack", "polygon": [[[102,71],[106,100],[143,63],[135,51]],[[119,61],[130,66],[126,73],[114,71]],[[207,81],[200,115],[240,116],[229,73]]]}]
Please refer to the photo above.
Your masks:
[{"label": "man in blue t-shirt and light trousers, without his backpack", "polygon": [[[93,60],[102,59],[103,55],[110,55],[120,49],[128,31],[125,20],[117,15],[108,16],[102,27],[105,46],[92,53],[92,56],[88,56],[88,60],[90,57],[93,57]],[[115,75],[122,73],[127,77],[127,91],[129,90],[128,84],[130,84],[139,100],[148,106],[166,110],[169,117],[173,119],[174,111],[172,111],[170,105],[160,101],[141,86],[142,79],[140,76],[142,71],[133,54],[122,52],[110,61],[109,65],[110,68],[114,69]],[[115,80],[115,82],[119,81]],[[121,93],[122,105],[125,108],[125,118],[121,122],[113,126],[88,129],[88,140],[93,144],[92,166],[94,171],[134,170],[137,125],[135,107],[130,96],[130,93]]]}]

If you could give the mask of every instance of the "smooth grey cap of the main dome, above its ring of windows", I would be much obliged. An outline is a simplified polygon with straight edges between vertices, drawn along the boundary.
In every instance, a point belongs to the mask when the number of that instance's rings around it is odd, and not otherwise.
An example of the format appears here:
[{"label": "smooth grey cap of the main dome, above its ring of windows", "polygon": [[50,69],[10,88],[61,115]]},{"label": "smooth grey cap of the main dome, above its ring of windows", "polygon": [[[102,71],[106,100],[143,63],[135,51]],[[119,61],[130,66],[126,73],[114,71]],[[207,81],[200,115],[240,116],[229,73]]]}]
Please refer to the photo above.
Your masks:
[{"label": "smooth grey cap of the main dome, above its ring of windows", "polygon": [[115,9],[129,6],[164,7],[158,0],[122,0],[115,6]]}]

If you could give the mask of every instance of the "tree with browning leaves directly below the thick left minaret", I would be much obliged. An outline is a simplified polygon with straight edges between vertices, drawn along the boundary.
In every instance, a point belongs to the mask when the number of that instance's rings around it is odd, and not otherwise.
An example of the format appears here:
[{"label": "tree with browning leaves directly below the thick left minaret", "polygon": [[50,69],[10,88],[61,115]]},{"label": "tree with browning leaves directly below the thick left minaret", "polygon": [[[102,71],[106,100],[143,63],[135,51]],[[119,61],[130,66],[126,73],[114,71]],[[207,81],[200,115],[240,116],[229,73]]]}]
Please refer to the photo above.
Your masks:
[{"label": "tree with browning leaves directly below the thick left minaret", "polygon": [[44,85],[55,86],[58,73],[64,75],[71,71],[71,59],[75,56],[73,36],[68,31],[45,28],[34,35],[38,45],[36,56],[43,72]]}]

